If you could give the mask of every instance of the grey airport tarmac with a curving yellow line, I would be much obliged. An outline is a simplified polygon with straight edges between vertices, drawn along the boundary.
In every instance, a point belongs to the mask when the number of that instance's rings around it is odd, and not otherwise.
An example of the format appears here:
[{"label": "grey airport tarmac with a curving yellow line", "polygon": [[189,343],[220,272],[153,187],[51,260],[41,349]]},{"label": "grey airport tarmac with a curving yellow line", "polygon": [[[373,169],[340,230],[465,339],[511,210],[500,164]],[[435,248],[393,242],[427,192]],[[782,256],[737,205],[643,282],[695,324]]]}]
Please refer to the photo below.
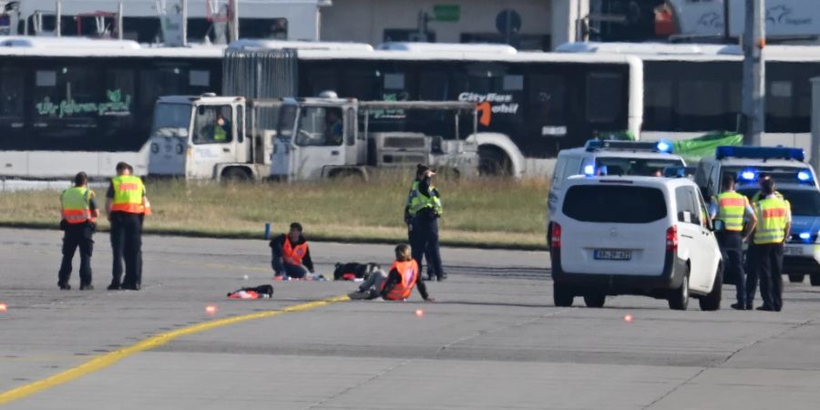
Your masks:
[{"label": "grey airport tarmac with a curving yellow line", "polygon": [[[354,290],[352,282],[272,282],[266,241],[146,236],[143,290],[108,292],[103,233],[93,261],[97,289],[59,291],[60,237],[0,229],[4,408],[820,403],[820,288],[808,283],[785,284],[782,313],[729,309],[732,286],[714,313],[695,301],[675,312],[665,301],[626,296],[603,309],[581,307],[580,298],[577,307],[555,308],[548,253],[444,249],[450,277],[428,283],[437,302],[417,293],[409,302],[350,302],[335,297]],[[312,254],[318,272],[331,276],[337,261],[389,266],[393,247],[313,243]],[[264,283],[275,286],[272,300],[225,297]],[[77,289],[76,271],[71,284]]]}]

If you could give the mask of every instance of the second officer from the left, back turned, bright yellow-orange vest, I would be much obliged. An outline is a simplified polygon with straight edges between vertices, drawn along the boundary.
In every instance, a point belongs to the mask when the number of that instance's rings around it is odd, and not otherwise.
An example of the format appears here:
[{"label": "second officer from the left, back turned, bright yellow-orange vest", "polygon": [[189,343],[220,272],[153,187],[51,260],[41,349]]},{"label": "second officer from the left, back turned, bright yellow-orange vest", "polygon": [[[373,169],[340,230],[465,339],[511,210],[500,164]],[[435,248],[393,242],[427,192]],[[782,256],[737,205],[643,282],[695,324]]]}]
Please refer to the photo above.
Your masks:
[{"label": "second officer from the left, back turned, bright yellow-orange vest", "polygon": [[[117,164],[117,177],[111,179],[106,195],[106,211],[111,221],[111,249],[114,251],[109,291],[138,291],[142,286],[142,220],[150,214],[142,179],[131,175],[131,166]],[[125,260],[125,278],[122,263]]]}]

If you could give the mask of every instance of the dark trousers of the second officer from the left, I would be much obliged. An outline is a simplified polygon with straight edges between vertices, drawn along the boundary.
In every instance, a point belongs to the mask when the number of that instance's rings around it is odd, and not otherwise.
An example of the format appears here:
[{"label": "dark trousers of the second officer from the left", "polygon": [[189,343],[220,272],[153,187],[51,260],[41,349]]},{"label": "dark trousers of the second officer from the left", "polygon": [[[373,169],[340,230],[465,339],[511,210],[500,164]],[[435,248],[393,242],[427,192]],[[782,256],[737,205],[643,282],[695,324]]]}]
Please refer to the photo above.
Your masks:
[{"label": "dark trousers of the second officer from the left", "polygon": [[[121,284],[128,289],[142,284],[142,218],[136,213],[111,212],[112,285]],[[123,260],[125,278],[122,277]]]}]

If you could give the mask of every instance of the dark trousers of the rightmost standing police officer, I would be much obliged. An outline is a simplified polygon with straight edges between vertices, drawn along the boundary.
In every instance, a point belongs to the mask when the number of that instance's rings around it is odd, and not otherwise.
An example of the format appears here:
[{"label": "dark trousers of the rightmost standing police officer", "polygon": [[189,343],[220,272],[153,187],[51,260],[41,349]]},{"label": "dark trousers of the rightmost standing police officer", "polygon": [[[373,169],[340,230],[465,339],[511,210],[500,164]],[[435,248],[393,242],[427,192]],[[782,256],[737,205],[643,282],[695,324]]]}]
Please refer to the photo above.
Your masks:
[{"label": "dark trousers of the rightmost standing police officer", "polygon": [[754,301],[756,284],[760,281],[764,306],[780,311],[783,308],[783,243],[752,245],[749,259],[752,269],[746,285],[746,305]]}]

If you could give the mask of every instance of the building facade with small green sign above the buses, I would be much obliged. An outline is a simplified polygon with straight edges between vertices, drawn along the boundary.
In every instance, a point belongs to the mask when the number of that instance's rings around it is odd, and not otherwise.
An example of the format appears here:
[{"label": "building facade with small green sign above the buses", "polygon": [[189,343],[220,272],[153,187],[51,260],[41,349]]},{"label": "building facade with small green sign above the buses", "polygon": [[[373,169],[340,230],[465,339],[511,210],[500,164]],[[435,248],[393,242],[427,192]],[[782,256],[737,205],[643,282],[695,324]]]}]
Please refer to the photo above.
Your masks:
[{"label": "building facade with small green sign above the buses", "polygon": [[322,9],[325,41],[505,43],[550,50],[574,41],[589,0],[333,0]]}]

